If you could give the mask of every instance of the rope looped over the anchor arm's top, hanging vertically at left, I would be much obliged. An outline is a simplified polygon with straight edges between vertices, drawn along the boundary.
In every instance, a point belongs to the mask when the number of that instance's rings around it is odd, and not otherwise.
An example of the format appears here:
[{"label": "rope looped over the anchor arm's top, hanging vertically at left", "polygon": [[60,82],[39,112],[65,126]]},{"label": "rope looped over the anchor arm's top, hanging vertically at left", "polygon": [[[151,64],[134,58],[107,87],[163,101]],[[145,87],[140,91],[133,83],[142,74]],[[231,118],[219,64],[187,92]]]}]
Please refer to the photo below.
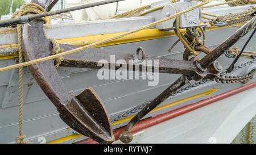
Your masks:
[{"label": "rope looped over the anchor arm's top, hanging vertically at left", "polygon": [[[15,18],[16,15],[18,17],[26,15],[28,13],[32,14],[40,14],[42,12],[46,12],[43,7],[36,5],[35,3],[29,3],[28,5],[24,5],[20,8],[19,11],[15,11],[11,18]],[[40,18],[47,23],[46,18]],[[19,48],[19,64],[23,63],[23,54],[22,54],[22,24],[17,25],[18,32],[18,48]],[[22,127],[22,119],[23,119],[23,66],[19,67],[19,136],[16,137],[16,143],[18,144],[30,144],[31,142],[25,141],[25,135],[23,135],[23,127]]]}]

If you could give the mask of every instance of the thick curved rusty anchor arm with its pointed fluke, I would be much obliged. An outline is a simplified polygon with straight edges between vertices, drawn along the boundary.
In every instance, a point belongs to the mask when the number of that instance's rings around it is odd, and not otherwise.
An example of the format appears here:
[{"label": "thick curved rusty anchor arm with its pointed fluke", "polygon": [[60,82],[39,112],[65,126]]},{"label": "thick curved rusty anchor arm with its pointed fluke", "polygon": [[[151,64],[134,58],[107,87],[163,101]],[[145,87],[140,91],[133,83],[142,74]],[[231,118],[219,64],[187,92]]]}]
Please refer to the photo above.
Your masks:
[{"label": "thick curved rusty anchor arm with its pointed fluke", "polygon": [[[55,3],[56,1],[52,1]],[[45,8],[37,0],[37,3]],[[52,3],[49,2],[50,7]],[[47,9],[49,10],[49,8]],[[44,36],[42,20],[23,25],[23,55],[26,61],[51,56],[51,43]],[[99,143],[114,141],[112,127],[106,108],[92,87],[74,97],[69,94],[55,68],[54,60],[28,66],[38,85],[60,113],[60,118],[75,131],[91,137]]]}]

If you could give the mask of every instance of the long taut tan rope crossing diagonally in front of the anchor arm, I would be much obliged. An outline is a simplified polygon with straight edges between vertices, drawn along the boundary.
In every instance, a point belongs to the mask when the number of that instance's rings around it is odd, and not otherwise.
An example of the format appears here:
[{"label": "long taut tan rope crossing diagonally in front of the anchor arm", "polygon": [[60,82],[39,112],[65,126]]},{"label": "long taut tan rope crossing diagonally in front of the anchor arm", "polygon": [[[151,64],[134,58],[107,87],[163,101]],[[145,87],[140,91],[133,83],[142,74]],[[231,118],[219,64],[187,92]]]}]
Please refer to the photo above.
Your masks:
[{"label": "long taut tan rope crossing diagonally in front of the anchor arm", "polygon": [[44,62],[44,61],[48,61],[48,60],[52,60],[52,59],[55,59],[55,58],[59,58],[61,56],[71,55],[72,53],[76,53],[76,52],[79,52],[79,51],[82,51],[82,50],[85,50],[85,49],[88,49],[88,48],[93,48],[93,47],[97,47],[98,45],[109,43],[109,42],[114,41],[116,39],[119,39],[121,37],[125,37],[127,35],[131,35],[131,34],[133,34],[135,32],[138,32],[138,31],[141,31],[141,30],[145,30],[145,29],[150,28],[150,27],[154,27],[157,24],[160,24],[160,23],[166,22],[167,20],[175,18],[177,15],[182,15],[182,14],[185,14],[185,13],[187,13],[189,11],[195,10],[195,9],[201,7],[201,6],[206,5],[210,1],[212,1],[212,0],[205,1],[203,3],[200,3],[199,5],[196,5],[196,6],[193,6],[193,7],[189,8],[189,9],[186,9],[184,11],[178,12],[177,14],[168,16],[167,18],[160,19],[160,20],[158,20],[156,22],[153,22],[151,24],[147,24],[146,26],[136,28],[135,30],[128,31],[128,32],[122,33],[120,35],[116,35],[116,36],[110,37],[108,39],[97,41],[96,43],[89,44],[89,45],[86,45],[84,47],[80,47],[80,48],[72,49],[71,51],[62,52],[62,53],[59,53],[59,54],[56,54],[56,55],[52,55],[52,56],[48,56],[48,57],[43,57],[43,58],[39,58],[39,59],[36,59],[36,60],[27,61],[27,62],[23,62],[23,63],[20,63],[20,64],[15,64],[15,65],[6,66],[4,68],[0,68],[0,72],[11,70],[11,69],[15,69],[15,68],[20,68],[20,67],[24,67],[24,66],[28,66],[28,65]]}]

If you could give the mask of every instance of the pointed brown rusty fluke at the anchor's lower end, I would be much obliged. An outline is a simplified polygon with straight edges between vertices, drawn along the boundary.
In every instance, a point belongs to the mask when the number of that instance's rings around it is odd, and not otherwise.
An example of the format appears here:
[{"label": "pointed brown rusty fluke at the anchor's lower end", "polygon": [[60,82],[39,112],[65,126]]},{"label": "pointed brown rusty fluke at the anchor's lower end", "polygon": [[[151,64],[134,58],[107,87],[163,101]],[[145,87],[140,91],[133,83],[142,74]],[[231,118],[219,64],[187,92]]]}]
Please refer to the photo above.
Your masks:
[{"label": "pointed brown rusty fluke at the anchor's lower end", "polygon": [[82,135],[100,143],[113,143],[114,136],[105,106],[92,87],[63,105],[60,118]]}]

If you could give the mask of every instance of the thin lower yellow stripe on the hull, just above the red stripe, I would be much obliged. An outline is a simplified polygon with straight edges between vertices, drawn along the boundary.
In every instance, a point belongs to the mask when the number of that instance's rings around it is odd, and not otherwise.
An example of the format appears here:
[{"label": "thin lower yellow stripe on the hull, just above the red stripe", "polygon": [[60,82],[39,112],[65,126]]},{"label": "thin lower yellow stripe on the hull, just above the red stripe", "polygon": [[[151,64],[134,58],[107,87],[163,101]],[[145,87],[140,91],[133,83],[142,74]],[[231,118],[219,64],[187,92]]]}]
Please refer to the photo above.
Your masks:
[{"label": "thin lower yellow stripe on the hull, just above the red stripe", "polygon": [[[163,110],[164,108],[168,108],[168,107],[171,107],[171,106],[174,106],[176,104],[179,104],[179,103],[183,103],[183,102],[186,102],[188,100],[192,100],[192,99],[195,99],[195,98],[199,98],[199,97],[202,97],[204,95],[210,95],[212,93],[214,93],[215,91],[217,91],[219,89],[210,89],[208,91],[205,91],[204,93],[201,93],[201,94],[197,94],[197,95],[193,95],[192,97],[188,97],[188,98],[184,98],[184,99],[181,99],[181,100],[177,100],[176,102],[172,102],[170,104],[166,104],[164,106],[160,106],[160,107],[157,107],[155,108],[154,110],[152,110],[150,113],[152,112],[156,112],[156,111],[159,111],[159,110]],[[133,116],[130,116],[128,118],[125,118],[125,119],[121,119],[121,120],[118,120],[117,122],[114,122],[112,123],[112,125],[116,125],[116,124],[121,124],[123,122],[126,122],[126,121],[129,121],[131,120]],[[80,137],[82,135],[70,135],[70,136],[67,136],[67,137],[62,137],[60,139],[57,139],[57,140],[53,140],[53,141],[49,141],[47,144],[59,144],[59,143],[64,143],[65,141],[68,141],[68,140],[72,140],[72,139],[76,139],[77,137]]]}]

